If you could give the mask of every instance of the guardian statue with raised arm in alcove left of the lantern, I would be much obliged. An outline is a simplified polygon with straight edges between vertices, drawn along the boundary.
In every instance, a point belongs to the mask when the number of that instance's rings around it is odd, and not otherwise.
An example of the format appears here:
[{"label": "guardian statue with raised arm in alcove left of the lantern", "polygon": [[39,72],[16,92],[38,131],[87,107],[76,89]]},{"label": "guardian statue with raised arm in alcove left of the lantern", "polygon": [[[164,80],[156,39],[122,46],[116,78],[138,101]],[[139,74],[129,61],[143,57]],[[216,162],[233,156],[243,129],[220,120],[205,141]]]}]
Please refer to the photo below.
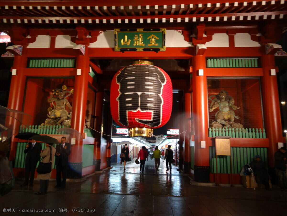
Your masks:
[{"label": "guardian statue with raised arm in alcove left of the lantern", "polygon": [[67,100],[67,97],[71,94],[73,94],[73,89],[68,91],[67,86],[62,86],[62,89],[56,88],[52,90],[48,102],[51,103],[53,108],[48,108],[49,114],[47,116],[49,118],[42,125],[62,125],[66,127],[71,125],[71,113],[68,113],[66,110],[66,106],[72,110],[72,106]]}]

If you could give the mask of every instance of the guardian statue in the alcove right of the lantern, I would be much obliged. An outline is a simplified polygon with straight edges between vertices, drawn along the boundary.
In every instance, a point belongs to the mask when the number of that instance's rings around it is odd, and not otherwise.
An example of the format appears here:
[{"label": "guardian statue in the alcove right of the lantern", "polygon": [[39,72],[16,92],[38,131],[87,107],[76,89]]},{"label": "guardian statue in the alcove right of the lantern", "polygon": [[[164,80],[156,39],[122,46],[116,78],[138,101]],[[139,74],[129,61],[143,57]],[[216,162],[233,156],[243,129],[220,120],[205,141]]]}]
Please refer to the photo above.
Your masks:
[{"label": "guardian statue in the alcove right of the lantern", "polygon": [[243,128],[242,124],[234,122],[234,119],[239,119],[239,117],[235,115],[233,110],[240,109],[240,107],[234,105],[234,99],[228,95],[227,91],[221,90],[218,94],[208,97],[208,99],[212,101],[210,112],[214,111],[214,109],[219,109],[215,113],[216,122],[212,122],[211,127],[222,128],[223,125],[224,128]]}]

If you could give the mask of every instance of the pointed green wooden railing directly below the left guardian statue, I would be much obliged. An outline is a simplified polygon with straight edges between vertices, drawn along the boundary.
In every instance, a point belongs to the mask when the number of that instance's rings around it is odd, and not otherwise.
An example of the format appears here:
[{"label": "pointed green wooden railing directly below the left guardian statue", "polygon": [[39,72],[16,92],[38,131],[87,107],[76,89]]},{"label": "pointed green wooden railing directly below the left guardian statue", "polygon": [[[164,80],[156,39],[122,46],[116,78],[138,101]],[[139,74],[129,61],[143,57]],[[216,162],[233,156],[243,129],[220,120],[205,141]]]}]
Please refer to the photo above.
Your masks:
[{"label": "pointed green wooden railing directly below the left guardian statue", "polygon": [[[58,134],[57,130],[60,128],[69,128],[70,126],[62,126],[62,125],[30,125],[28,128],[20,127],[19,132],[32,132],[36,134]],[[64,134],[64,131],[61,131],[59,134]]]}]

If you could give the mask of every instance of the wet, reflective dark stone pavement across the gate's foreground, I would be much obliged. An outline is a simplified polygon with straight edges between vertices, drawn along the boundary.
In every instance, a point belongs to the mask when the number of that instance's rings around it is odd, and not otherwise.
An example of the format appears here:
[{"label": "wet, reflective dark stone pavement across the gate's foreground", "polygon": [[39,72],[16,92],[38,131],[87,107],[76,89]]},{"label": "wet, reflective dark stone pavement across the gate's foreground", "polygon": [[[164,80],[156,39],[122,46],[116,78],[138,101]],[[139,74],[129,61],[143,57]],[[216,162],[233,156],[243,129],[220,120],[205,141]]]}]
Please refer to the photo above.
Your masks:
[{"label": "wet, reflective dark stone pavement across the gate's foreground", "polygon": [[[112,166],[63,189],[51,180],[45,195],[34,194],[39,181],[34,187],[16,181],[13,191],[0,197],[0,215],[286,215],[287,191],[192,186],[175,166],[166,173],[161,161],[156,172],[150,159],[144,173],[133,161],[125,171],[119,163]],[[27,212],[32,209],[49,212]]]}]

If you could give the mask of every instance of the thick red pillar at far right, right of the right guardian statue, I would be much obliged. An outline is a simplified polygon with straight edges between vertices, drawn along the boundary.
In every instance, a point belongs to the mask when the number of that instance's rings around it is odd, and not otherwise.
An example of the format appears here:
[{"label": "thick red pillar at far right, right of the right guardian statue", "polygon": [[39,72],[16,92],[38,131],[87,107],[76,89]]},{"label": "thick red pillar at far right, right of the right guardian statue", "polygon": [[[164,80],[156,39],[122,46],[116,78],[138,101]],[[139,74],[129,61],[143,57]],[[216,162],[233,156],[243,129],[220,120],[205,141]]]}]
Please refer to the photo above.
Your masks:
[{"label": "thick red pillar at far right, right of the right guardian statue", "polygon": [[274,55],[261,57],[263,76],[261,77],[263,114],[266,136],[269,138],[268,162],[274,167],[274,153],[278,151],[277,142],[282,142],[282,126],[279,107],[277,77],[271,76],[271,69],[275,69]]}]

